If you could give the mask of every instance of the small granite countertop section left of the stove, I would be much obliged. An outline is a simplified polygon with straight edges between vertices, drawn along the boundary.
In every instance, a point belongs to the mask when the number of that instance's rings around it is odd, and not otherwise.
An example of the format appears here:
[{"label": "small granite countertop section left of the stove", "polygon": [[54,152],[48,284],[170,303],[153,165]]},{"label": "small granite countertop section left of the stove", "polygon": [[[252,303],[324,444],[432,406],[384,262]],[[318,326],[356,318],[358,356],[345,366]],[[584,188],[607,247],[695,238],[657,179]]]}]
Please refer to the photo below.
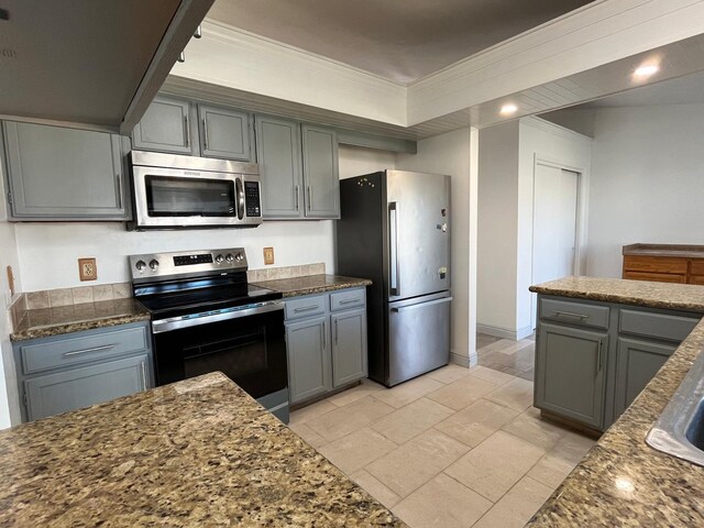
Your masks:
[{"label": "small granite countertop section left of the stove", "polygon": [[148,311],[132,298],[28,309],[10,339],[22,341],[148,320]]}]

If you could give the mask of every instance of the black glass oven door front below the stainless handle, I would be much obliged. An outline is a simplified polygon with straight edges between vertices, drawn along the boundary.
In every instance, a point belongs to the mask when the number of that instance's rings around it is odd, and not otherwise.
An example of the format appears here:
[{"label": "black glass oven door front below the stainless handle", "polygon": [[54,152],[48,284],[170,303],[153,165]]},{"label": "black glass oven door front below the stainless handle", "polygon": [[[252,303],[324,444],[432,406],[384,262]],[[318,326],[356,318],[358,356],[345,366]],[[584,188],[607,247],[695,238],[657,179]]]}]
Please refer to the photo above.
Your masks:
[{"label": "black glass oven door front below the stainless handle", "polygon": [[237,316],[154,333],[156,384],[220,371],[254,398],[286,388],[283,309]]}]

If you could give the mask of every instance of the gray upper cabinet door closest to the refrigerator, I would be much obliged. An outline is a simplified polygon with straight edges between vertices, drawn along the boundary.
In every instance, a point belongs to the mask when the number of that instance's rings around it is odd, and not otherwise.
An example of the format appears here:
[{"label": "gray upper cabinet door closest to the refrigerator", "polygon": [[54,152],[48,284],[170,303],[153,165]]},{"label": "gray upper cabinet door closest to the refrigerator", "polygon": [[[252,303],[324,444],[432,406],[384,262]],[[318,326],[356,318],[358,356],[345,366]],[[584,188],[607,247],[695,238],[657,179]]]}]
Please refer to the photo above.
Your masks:
[{"label": "gray upper cabinet door closest to the refrigerator", "polygon": [[306,218],[340,218],[338,138],[334,130],[301,125]]}]

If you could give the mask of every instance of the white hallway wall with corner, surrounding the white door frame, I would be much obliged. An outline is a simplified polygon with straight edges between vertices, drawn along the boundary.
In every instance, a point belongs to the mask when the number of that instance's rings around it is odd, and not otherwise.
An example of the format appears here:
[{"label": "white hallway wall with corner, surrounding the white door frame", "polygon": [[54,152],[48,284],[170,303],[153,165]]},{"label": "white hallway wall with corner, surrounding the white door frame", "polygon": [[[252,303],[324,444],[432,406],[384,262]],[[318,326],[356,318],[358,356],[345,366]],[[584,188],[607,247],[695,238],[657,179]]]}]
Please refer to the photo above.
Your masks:
[{"label": "white hallway wall with corner, surrounding the white door frame", "polygon": [[532,332],[532,191],[536,160],[581,173],[580,268],[584,268],[591,140],[537,118],[480,132],[480,331],[520,339]]}]

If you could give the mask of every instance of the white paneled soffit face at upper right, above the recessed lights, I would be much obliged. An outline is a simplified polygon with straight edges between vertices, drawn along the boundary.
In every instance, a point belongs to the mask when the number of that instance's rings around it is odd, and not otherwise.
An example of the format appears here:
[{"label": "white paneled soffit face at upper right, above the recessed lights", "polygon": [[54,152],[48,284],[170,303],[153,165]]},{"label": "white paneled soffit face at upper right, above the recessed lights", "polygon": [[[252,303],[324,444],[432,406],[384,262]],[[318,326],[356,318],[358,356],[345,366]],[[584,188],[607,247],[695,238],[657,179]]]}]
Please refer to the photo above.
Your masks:
[{"label": "white paneled soffit face at upper right, above the recessed lights", "polygon": [[409,125],[704,32],[704,1],[618,0],[558,19],[408,88]]}]

